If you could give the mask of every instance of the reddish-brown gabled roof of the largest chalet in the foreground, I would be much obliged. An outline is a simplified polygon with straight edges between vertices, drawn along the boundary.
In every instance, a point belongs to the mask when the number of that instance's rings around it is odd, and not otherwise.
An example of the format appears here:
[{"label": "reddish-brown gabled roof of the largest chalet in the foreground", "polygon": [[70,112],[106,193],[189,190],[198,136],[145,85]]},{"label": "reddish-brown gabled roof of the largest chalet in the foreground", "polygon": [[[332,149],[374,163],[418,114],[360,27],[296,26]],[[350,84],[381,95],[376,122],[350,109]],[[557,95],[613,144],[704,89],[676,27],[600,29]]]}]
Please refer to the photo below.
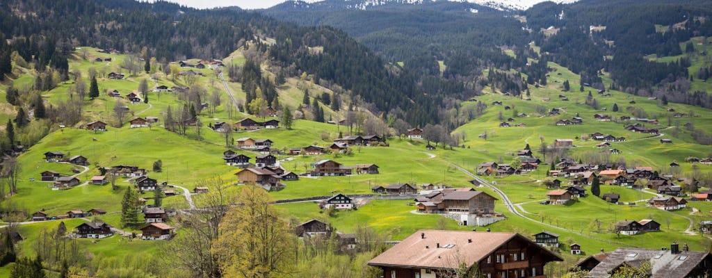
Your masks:
[{"label": "reddish-brown gabled roof of the largest chalet in the foreground", "polygon": [[563,260],[514,232],[419,230],[370,260],[368,264],[384,267],[456,269],[462,262],[470,267],[515,239],[531,242],[532,248],[538,248],[551,260]]}]

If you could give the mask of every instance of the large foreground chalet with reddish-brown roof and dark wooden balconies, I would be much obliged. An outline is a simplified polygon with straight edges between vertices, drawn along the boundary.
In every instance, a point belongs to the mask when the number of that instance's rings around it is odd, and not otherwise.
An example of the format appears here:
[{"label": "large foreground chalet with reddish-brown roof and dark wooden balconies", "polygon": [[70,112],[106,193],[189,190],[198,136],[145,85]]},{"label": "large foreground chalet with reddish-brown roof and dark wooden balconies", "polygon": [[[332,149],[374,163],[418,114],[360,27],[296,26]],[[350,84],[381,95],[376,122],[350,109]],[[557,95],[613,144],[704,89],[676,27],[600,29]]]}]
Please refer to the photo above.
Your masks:
[{"label": "large foreground chalet with reddish-brown roof and dark wooden balconies", "polygon": [[462,265],[476,265],[483,277],[545,277],[545,264],[562,260],[513,232],[419,230],[368,264],[382,277],[436,277]]}]

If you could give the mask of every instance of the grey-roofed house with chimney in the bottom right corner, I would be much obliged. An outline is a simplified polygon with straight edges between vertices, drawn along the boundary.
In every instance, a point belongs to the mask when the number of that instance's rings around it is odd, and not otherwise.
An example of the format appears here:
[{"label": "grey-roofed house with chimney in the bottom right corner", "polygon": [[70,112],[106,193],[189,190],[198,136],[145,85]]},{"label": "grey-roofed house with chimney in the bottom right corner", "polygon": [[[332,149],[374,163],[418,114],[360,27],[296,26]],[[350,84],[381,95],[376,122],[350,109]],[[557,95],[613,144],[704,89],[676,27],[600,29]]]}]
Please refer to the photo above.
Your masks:
[{"label": "grey-roofed house with chimney in the bottom right corner", "polygon": [[712,255],[692,252],[685,246],[680,250],[677,243],[671,244],[669,250],[620,248],[591,269],[586,277],[611,277],[623,266],[639,267],[644,263],[653,266],[647,274],[651,278],[706,277],[712,268]]}]

